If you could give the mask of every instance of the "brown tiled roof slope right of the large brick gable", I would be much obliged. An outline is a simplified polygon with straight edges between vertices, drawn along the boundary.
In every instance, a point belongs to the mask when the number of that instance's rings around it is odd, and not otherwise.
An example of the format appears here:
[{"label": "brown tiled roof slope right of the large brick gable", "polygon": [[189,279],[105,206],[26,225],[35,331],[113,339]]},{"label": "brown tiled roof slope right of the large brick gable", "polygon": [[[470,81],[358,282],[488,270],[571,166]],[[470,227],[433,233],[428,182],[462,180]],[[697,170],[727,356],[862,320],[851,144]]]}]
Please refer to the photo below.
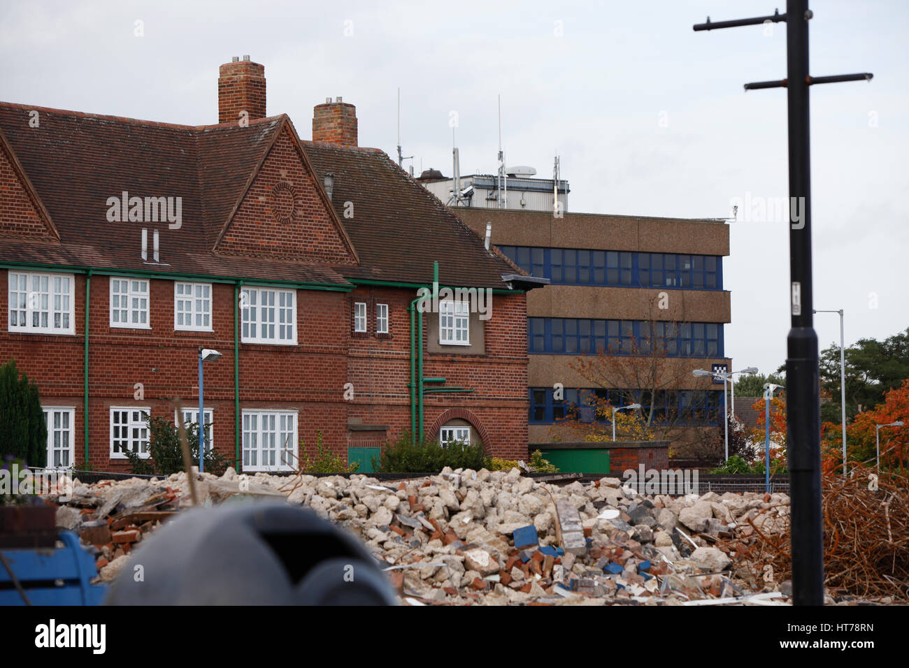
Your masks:
[{"label": "brown tiled roof slope right of the large brick gable", "polygon": [[427,284],[434,260],[443,285],[504,288],[521,273],[382,151],[301,144],[320,182],[335,176],[332,205],[361,261],[338,267],[350,280]]}]

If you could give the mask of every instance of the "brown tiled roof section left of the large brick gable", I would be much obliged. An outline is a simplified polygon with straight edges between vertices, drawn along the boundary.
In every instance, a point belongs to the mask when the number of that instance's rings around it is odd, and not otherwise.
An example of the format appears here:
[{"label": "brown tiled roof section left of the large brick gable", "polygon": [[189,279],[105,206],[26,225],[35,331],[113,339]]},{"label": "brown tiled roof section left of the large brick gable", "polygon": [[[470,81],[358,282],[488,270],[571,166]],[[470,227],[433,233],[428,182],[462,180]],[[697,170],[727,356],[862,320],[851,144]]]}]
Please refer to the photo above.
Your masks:
[{"label": "brown tiled roof section left of the large brick gable", "polygon": [[[33,111],[37,127],[28,123]],[[293,254],[250,262],[212,251],[284,125],[283,116],[242,128],[196,127],[0,103],[8,151],[59,238],[54,248],[36,244],[34,236],[0,235],[0,262],[349,285],[334,263]],[[124,193],[129,200],[141,198],[145,213],[151,198],[173,204],[179,198],[179,224],[161,218],[111,220],[108,201],[122,200]],[[0,196],[6,201],[7,195]],[[141,256],[143,229],[147,261]],[[151,262],[154,230],[160,236],[158,263]]]}]

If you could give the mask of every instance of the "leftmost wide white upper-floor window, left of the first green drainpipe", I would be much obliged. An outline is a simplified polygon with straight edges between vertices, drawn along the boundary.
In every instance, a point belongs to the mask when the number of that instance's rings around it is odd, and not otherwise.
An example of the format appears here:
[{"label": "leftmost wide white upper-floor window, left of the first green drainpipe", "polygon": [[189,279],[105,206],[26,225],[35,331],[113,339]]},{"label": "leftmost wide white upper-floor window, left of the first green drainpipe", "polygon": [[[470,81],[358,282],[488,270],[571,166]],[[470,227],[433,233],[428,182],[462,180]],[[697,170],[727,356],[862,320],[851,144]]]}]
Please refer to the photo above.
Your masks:
[{"label": "leftmost wide white upper-floor window, left of the first green drainpipe", "polygon": [[9,271],[9,331],[75,334],[73,274]]}]

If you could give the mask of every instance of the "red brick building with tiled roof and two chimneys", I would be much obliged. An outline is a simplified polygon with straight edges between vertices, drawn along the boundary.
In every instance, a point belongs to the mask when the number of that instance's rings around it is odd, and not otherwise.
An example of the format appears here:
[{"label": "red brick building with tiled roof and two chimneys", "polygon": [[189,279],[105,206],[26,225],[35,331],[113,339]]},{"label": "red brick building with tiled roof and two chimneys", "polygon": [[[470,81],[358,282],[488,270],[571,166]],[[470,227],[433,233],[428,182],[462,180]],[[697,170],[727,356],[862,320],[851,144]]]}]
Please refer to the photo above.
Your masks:
[{"label": "red brick building with tiled roof and two chimneys", "polygon": [[[319,430],[368,466],[421,418],[525,457],[539,283],[357,146],[353,105],[317,105],[305,142],[265,115],[262,65],[222,65],[218,94],[204,126],[0,104],[0,360],[39,386],[48,464],[125,470],[143,412],[195,421],[201,348],[214,446],[246,471],[295,467]],[[421,313],[435,262],[487,312]]]}]

